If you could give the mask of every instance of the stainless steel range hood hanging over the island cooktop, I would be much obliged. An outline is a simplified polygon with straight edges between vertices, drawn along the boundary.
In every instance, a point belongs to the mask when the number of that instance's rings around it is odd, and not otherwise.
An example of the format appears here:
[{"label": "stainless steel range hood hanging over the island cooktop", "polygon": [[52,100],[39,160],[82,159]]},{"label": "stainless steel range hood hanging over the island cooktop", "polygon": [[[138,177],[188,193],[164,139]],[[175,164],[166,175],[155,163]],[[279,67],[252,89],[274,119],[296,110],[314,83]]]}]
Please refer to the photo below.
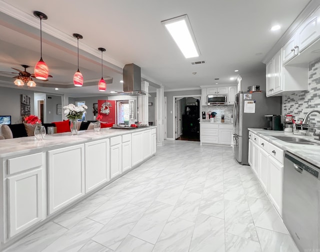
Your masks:
[{"label": "stainless steel range hood hanging over the island cooktop", "polygon": [[123,67],[123,95],[140,96],[147,93],[141,90],[141,69],[139,66],[126,64]]}]

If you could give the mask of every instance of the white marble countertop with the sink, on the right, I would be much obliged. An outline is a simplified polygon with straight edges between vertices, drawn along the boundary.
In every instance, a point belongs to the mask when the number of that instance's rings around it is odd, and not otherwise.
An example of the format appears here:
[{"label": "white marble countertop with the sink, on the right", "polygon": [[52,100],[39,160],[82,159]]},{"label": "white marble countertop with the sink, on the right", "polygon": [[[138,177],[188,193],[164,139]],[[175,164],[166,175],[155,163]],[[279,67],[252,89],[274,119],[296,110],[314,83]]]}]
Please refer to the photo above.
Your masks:
[{"label": "white marble countertop with the sink, on the right", "polygon": [[292,154],[320,167],[320,145],[307,145],[307,144],[297,144],[297,143],[287,143],[282,140],[279,140],[273,136],[289,136],[289,137],[298,137],[310,140],[315,143],[320,141],[314,140],[314,137],[311,136],[301,136],[293,135],[292,132],[284,131],[275,131],[275,130],[264,130],[264,129],[253,129],[248,128],[252,133],[257,136],[267,140],[268,142],[274,144],[275,146],[291,152]]}]

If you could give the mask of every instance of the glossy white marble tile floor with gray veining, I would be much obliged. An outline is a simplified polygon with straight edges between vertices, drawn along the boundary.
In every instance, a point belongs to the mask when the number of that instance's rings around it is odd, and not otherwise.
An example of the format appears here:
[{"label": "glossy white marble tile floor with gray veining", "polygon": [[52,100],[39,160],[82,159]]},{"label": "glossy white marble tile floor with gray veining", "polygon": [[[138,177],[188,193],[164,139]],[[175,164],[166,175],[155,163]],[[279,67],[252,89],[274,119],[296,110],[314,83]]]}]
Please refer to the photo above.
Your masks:
[{"label": "glossy white marble tile floor with gray veining", "polygon": [[138,168],[5,252],[298,252],[231,148],[164,143]]}]

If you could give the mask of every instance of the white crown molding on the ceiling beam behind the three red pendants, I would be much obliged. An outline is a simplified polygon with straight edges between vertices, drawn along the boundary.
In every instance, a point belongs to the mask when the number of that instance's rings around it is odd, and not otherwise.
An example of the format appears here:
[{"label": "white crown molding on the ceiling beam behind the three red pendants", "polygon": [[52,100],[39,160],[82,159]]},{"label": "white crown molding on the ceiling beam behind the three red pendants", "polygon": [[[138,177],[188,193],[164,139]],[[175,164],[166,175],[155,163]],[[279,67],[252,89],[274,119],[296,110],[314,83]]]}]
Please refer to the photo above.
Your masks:
[{"label": "white crown molding on the ceiling beam behind the three red pendants", "polygon": [[[0,6],[1,6],[2,13],[39,30],[39,20],[37,18],[35,18],[33,16],[33,14],[31,15],[31,14],[25,13],[25,12],[7,4],[6,2],[4,2],[2,0],[0,0]],[[65,33],[61,32],[60,30],[58,30],[52,26],[47,25],[45,22],[42,22],[42,32],[60,40],[60,41],[63,41],[71,46],[77,47],[77,41],[73,38],[72,35],[65,34]],[[101,54],[97,49],[89,47],[89,46],[83,44],[82,42],[79,42],[79,49],[90,54],[90,55],[93,55],[97,58],[101,58]],[[124,64],[108,57],[107,55],[103,56],[103,61],[106,63],[112,64],[116,67],[119,67],[121,69],[124,67]]]}]

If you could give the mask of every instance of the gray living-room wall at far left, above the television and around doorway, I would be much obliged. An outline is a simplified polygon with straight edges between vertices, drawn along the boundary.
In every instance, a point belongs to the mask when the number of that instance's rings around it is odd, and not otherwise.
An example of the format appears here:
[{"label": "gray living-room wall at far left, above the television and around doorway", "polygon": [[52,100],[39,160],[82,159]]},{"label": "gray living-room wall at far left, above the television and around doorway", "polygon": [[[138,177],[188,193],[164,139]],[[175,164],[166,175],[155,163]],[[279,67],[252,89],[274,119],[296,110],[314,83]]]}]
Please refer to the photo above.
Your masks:
[{"label": "gray living-room wall at far left, above the television and around doorway", "polygon": [[11,116],[12,124],[21,123],[20,95],[22,94],[30,97],[31,115],[34,115],[33,91],[0,87],[0,115]]}]

